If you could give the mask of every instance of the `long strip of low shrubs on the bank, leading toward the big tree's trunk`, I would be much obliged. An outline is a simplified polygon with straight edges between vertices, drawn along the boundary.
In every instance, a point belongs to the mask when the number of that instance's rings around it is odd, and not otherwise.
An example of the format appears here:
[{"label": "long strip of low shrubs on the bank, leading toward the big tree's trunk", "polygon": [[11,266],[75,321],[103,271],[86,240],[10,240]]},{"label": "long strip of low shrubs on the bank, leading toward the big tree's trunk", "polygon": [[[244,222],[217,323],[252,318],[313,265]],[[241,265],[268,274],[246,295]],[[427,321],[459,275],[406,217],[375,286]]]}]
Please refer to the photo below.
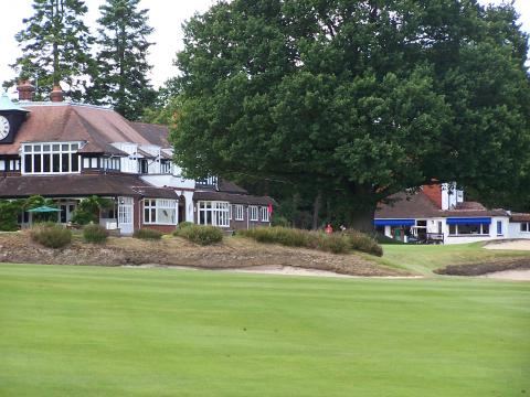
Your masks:
[{"label": "long strip of low shrubs on the bank, leading toward the big tree's trunk", "polygon": [[319,249],[333,254],[346,254],[353,250],[382,256],[383,250],[371,237],[359,233],[333,233],[309,232],[288,227],[255,227],[248,230],[240,230],[245,237],[259,243],[280,244],[288,247],[304,247]]}]

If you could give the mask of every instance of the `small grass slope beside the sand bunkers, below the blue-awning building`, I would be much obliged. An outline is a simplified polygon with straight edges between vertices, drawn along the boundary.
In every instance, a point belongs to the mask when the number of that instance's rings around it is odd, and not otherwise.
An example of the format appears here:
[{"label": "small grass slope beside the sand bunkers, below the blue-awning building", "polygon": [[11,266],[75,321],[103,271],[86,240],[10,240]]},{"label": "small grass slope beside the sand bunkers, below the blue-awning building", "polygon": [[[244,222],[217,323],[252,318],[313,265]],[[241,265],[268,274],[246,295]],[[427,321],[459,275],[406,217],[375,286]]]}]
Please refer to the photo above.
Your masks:
[{"label": "small grass slope beside the sand bunkers, below the blue-awning building", "polygon": [[[528,257],[530,251],[483,248],[483,243],[449,245],[383,245],[379,262],[421,275],[433,275],[434,269],[447,265],[490,261],[500,258]],[[372,257],[373,258],[373,257]]]}]

